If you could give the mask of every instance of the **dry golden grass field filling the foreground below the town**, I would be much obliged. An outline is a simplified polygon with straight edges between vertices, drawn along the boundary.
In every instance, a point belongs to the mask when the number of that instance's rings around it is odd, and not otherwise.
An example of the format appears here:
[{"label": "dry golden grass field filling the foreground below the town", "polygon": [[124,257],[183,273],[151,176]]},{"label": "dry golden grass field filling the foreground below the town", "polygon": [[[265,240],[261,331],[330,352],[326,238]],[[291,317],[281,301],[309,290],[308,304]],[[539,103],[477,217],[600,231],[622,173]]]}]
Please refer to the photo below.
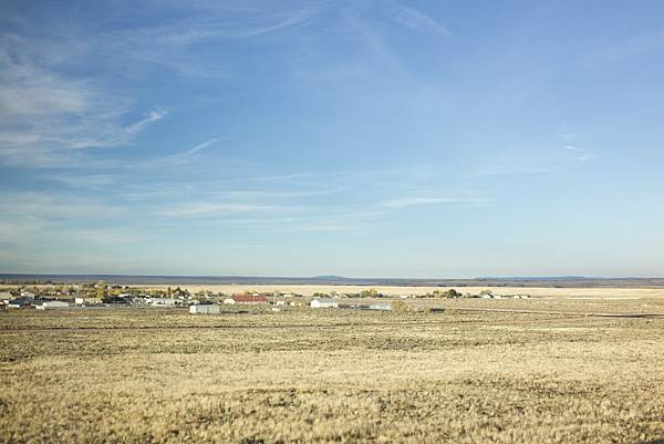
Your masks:
[{"label": "dry golden grass field filling the foreground below the town", "polygon": [[554,296],[0,312],[0,442],[664,443],[664,298]]}]

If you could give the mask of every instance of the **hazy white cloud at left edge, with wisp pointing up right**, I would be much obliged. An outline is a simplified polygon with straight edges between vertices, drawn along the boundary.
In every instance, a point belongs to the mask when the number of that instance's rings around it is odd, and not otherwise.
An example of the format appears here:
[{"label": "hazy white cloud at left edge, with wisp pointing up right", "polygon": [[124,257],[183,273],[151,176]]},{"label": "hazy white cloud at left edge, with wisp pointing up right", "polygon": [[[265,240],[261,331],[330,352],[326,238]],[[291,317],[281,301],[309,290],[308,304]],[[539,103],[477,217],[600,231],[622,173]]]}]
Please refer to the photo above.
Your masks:
[{"label": "hazy white cloud at left edge, with wisp pointing up right", "polygon": [[129,125],[129,101],[50,64],[39,42],[0,34],[0,158],[11,165],[54,166],[73,149],[129,144],[165,111]]}]

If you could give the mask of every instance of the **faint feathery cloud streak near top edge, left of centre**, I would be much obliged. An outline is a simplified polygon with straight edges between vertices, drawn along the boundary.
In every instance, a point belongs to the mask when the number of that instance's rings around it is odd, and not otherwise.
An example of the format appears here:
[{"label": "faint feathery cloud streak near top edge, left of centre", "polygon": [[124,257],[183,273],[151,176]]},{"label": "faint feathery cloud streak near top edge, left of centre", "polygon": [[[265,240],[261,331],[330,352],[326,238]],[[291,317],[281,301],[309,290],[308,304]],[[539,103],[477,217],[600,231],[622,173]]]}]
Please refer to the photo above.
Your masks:
[{"label": "faint feathery cloud streak near top edge, left of centre", "polygon": [[[91,35],[107,55],[102,63],[112,64],[125,75],[144,75],[155,70],[168,70],[183,78],[217,78],[228,75],[226,60],[209,56],[210,45],[237,44],[238,40],[260,41],[314,20],[320,4],[278,8],[235,8],[217,2],[200,10],[176,6],[175,20],[159,25],[133,27]],[[272,42],[263,42],[272,44]]]}]

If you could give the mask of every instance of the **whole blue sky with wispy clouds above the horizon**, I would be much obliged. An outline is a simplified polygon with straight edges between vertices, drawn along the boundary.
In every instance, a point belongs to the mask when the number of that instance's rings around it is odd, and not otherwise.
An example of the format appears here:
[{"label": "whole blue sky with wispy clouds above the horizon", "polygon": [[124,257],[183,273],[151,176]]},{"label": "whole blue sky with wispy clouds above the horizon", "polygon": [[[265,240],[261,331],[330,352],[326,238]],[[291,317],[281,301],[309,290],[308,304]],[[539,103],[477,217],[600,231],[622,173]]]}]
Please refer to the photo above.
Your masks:
[{"label": "whole blue sky with wispy clouds above the horizon", "polygon": [[664,276],[661,1],[3,1],[0,271]]}]

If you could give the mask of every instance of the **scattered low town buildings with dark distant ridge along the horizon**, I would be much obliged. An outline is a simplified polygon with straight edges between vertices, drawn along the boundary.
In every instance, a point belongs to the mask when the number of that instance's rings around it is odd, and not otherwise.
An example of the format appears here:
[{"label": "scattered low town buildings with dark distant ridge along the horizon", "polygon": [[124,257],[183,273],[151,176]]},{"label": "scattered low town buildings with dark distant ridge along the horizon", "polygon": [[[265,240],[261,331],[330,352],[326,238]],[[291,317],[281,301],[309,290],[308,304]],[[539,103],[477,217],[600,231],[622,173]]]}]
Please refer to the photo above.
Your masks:
[{"label": "scattered low town buildings with dark distant ridge along the horizon", "polygon": [[[128,285],[131,282],[131,285]],[[173,288],[169,283],[178,285]],[[190,291],[187,283],[194,285],[221,285],[226,283],[225,291],[199,289]],[[2,286],[6,286],[4,288]],[[185,288],[180,288],[184,285]],[[251,289],[269,285],[301,286],[318,285],[318,291],[302,295],[297,291]],[[355,289],[345,289],[343,286],[362,286]],[[474,279],[387,279],[387,278],[344,278],[341,276],[317,276],[311,278],[288,277],[186,277],[186,276],[114,276],[114,275],[9,275],[0,273],[0,307],[7,309],[63,309],[86,307],[189,307],[190,312],[197,311],[193,306],[216,304],[272,304],[276,307],[309,306],[320,308],[324,301],[325,308],[353,308],[353,309],[393,309],[390,302],[357,303],[357,298],[387,298],[371,286],[391,286],[393,290],[403,288],[393,297],[408,298],[481,298],[481,299],[529,299],[523,291],[505,292],[504,287],[512,289],[519,287],[535,288],[593,288],[614,287],[622,288],[663,288],[664,279],[651,278],[585,278],[585,277],[511,277],[511,278],[474,278]],[[143,287],[146,286],[146,287]],[[234,291],[234,286],[240,286]],[[430,289],[430,287],[437,287]],[[458,287],[457,291],[453,287]],[[486,287],[476,292],[464,291],[466,287]],[[214,287],[212,287],[214,288]],[[338,291],[338,288],[341,291]],[[304,289],[304,288],[303,288]],[[309,298],[304,298],[304,297]],[[304,298],[304,299],[303,299]],[[403,308],[396,304],[397,308]],[[219,312],[210,307],[199,308],[206,312]],[[279,310],[272,308],[272,310]]]}]

